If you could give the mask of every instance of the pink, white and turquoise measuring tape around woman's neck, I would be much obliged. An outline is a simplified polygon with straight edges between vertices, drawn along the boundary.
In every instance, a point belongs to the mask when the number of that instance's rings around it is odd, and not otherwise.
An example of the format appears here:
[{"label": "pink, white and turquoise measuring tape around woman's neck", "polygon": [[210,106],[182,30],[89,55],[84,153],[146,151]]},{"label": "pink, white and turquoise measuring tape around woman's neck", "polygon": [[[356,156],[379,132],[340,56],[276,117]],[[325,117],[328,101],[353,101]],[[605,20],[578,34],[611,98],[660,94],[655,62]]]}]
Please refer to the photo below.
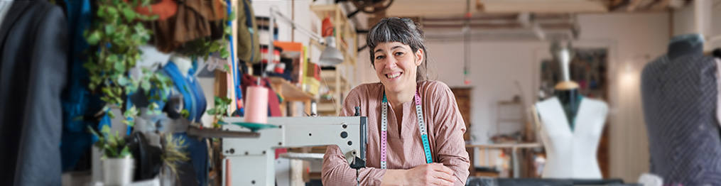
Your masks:
[{"label": "pink, white and turquoise measuring tape around woman's neck", "polygon": [[[418,129],[420,132],[420,139],[423,141],[423,151],[425,152],[425,161],[426,163],[430,164],[433,163],[433,158],[430,155],[430,143],[428,143],[428,133],[426,132],[425,128],[425,120],[423,120],[423,110],[420,107],[420,95],[418,95],[418,92],[415,92],[415,113],[418,118]],[[386,99],[386,93],[383,93],[383,102],[381,105],[383,105],[383,114],[381,115],[381,169],[386,169],[386,158],[387,156],[387,148],[388,146],[388,105],[390,103],[388,102],[388,99]],[[402,109],[399,108],[399,109]],[[398,117],[398,116],[396,116]],[[401,123],[397,123],[397,125],[401,125]]]}]

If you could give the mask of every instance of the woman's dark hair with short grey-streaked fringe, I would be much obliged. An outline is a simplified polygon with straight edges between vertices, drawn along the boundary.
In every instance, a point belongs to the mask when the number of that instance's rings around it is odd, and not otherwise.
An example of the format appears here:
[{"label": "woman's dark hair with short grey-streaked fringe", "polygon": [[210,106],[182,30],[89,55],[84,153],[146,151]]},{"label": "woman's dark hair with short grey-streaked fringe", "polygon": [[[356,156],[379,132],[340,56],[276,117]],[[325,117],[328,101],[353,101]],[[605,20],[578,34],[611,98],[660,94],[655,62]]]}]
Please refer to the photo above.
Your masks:
[{"label": "woman's dark hair with short grey-streaked fringe", "polygon": [[366,37],[368,50],[371,53],[371,65],[376,66],[376,55],[373,50],[379,43],[398,42],[409,45],[413,51],[413,56],[418,49],[423,49],[423,65],[418,66],[415,81],[423,81],[428,79],[426,76],[428,71],[428,48],[425,48],[425,38],[420,25],[409,18],[387,17],[381,19],[376,25],[371,27]]}]

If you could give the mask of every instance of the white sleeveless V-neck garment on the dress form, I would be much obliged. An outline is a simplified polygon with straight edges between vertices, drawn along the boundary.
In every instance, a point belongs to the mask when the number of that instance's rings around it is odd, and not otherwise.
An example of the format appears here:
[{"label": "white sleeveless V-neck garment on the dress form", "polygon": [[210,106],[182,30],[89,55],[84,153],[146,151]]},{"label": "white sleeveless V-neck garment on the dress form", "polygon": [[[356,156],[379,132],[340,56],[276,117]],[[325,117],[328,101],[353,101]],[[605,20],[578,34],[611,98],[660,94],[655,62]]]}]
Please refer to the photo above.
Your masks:
[{"label": "white sleeveless V-neck garment on the dress form", "polygon": [[596,99],[581,99],[574,130],[556,97],[536,103],[534,111],[540,117],[539,132],[548,159],[541,177],[601,179],[596,151],[608,105]]}]

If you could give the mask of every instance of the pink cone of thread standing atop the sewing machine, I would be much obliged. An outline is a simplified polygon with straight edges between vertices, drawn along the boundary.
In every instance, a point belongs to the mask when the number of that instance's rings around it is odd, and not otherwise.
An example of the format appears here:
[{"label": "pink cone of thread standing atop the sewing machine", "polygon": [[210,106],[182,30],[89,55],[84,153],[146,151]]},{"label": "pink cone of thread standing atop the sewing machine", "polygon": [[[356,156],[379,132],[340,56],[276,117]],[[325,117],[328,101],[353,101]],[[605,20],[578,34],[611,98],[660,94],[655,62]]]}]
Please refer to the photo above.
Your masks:
[{"label": "pink cone of thread standing atop the sewing machine", "polygon": [[245,99],[245,122],[267,123],[268,120],[268,89],[265,87],[248,87]]}]

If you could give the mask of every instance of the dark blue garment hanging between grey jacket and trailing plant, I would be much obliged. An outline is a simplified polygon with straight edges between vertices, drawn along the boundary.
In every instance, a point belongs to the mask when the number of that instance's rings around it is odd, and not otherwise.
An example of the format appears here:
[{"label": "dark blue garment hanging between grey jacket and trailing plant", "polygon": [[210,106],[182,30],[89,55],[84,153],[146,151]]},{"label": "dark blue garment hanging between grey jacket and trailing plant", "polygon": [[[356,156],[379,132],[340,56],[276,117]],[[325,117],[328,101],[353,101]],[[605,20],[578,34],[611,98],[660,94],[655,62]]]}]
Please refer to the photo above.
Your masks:
[{"label": "dark blue garment hanging between grey jacket and trailing plant", "polygon": [[89,0],[65,0],[68,15],[68,29],[71,42],[69,55],[70,73],[68,87],[63,91],[63,136],[61,138],[61,159],[63,171],[71,169],[78,159],[92,145],[93,136],[87,132],[87,126],[96,125],[92,121],[82,120],[89,107],[102,107],[99,97],[91,95],[86,88],[87,70],[82,67],[85,61],[79,58],[88,48],[83,32],[90,26],[92,13]]}]

